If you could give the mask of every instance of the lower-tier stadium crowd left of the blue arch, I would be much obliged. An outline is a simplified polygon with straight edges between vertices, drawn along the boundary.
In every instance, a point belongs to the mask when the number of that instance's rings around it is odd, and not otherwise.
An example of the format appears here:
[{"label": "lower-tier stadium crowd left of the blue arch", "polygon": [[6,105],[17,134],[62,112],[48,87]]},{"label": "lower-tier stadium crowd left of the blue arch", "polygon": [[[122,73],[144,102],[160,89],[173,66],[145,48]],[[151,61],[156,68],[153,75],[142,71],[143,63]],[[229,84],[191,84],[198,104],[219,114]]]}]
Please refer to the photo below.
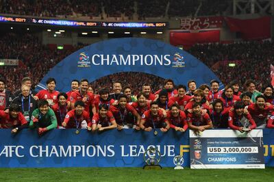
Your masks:
[{"label": "lower-tier stadium crowd left of the blue arch", "polygon": [[[23,77],[32,77],[36,86],[42,77],[60,60],[82,48],[73,47],[69,50],[51,50],[42,45],[38,37],[33,34],[4,34],[0,38],[1,59],[18,59],[20,66],[5,66],[0,69],[0,77],[7,80],[7,88],[14,92],[20,87]],[[40,63],[43,64],[40,64]]]}]

